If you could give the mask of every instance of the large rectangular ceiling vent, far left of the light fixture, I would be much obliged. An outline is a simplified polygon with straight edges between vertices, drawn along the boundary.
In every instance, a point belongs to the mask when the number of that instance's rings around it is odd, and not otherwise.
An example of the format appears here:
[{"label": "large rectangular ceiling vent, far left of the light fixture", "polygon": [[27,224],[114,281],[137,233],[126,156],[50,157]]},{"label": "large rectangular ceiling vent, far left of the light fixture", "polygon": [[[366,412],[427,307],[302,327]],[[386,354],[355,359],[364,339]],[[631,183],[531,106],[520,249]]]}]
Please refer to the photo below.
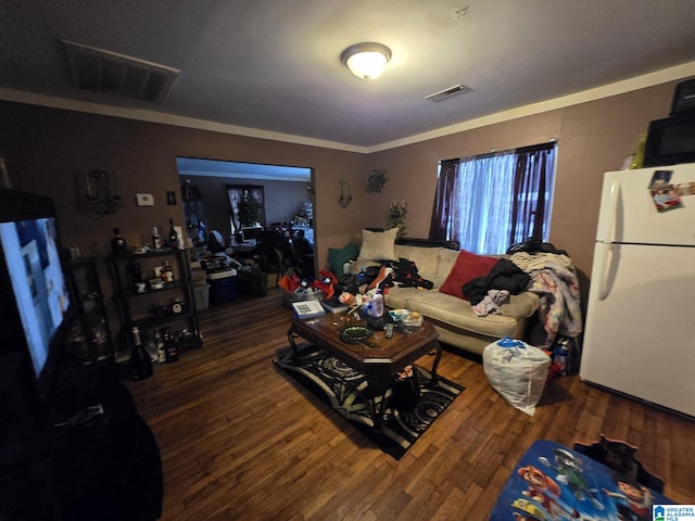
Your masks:
[{"label": "large rectangular ceiling vent, far left of the light fixture", "polygon": [[137,58],[62,40],[73,86],[162,103],[180,71]]}]

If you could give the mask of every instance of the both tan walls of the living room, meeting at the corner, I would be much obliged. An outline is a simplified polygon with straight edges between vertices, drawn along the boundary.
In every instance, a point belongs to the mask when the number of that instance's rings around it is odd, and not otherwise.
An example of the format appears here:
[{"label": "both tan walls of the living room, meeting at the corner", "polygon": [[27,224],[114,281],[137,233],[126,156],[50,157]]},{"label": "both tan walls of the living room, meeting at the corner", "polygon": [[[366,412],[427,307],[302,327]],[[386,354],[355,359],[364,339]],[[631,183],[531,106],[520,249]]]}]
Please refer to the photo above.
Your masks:
[{"label": "both tan walls of the living room, meeting at the corner", "polygon": [[[103,254],[111,228],[130,243],[147,239],[152,225],[169,217],[182,221],[180,204],[163,203],[178,190],[177,155],[311,167],[315,170],[318,266],[329,246],[358,240],[365,226],[382,227],[389,202],[408,203],[409,237],[427,237],[439,160],[523,147],[549,139],[559,144],[551,242],[567,250],[590,275],[604,171],[618,169],[648,122],[668,116],[669,82],[567,109],[508,120],[368,155],[244,138],[204,130],[96,116],[29,105],[0,103],[0,147],[15,188],[56,199],[66,245]],[[72,173],[117,169],[123,175],[124,208],[87,217],[71,204]],[[364,190],[369,173],[388,170],[383,193]],[[339,180],[352,186],[353,203],[337,204]],[[135,193],[153,193],[153,208],[135,206]]]}]

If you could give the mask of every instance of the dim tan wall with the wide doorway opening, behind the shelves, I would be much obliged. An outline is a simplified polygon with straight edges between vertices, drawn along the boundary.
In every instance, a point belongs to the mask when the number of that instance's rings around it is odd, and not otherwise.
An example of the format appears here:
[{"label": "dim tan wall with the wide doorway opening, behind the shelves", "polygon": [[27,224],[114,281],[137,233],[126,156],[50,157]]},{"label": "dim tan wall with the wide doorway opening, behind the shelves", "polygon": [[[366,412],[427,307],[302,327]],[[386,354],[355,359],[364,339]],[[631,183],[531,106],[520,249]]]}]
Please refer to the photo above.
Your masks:
[{"label": "dim tan wall with the wide doorway opening, behind the shelves", "polygon": [[[0,103],[0,151],[13,188],[54,198],[63,243],[83,254],[104,256],[114,227],[132,245],[149,241],[152,226],[168,230],[169,218],[182,224],[180,198],[176,206],[165,202],[167,190],[179,193],[179,155],[313,168],[320,267],[329,246],[342,246],[364,226],[356,188],[363,154],[14,103]],[[115,214],[86,215],[73,204],[73,173],[96,168],[121,171],[124,207]],[[339,179],[355,192],[344,209],[337,203]],[[136,206],[136,193],[153,194],[155,205]]]}]

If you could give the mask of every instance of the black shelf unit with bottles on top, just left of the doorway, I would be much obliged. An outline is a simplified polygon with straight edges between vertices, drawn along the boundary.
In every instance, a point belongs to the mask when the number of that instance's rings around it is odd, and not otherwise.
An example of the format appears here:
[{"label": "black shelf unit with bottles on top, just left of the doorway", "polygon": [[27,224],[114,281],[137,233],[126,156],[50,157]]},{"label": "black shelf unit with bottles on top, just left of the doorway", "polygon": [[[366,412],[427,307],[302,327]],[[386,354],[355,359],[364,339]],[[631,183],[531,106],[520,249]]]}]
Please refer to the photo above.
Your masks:
[{"label": "black shelf unit with bottles on top, just left of the doorway", "polygon": [[[148,274],[165,262],[169,262],[174,269],[174,281],[153,289],[148,282]],[[143,290],[138,290],[134,280],[136,265],[147,284]],[[111,271],[121,320],[118,338],[123,345],[132,346],[130,331],[137,327],[150,339],[154,339],[154,330],[170,328],[178,331],[179,352],[202,346],[188,250],[164,249],[114,255],[111,257]],[[181,333],[184,330],[187,334]]]}]

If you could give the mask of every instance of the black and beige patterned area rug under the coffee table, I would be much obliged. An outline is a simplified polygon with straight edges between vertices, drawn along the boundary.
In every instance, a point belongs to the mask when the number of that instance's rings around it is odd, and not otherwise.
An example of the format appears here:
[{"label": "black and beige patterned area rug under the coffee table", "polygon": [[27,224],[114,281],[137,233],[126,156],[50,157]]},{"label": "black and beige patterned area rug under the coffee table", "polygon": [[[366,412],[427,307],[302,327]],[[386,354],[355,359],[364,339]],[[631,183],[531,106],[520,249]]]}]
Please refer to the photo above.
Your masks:
[{"label": "black and beige patterned area rug under the coffee table", "polygon": [[[314,345],[300,350],[296,363],[291,352],[273,361],[395,459],[401,459],[464,391],[463,385],[442,377],[433,383],[430,371],[415,366],[421,391],[417,405],[407,411],[394,410],[389,407],[392,392],[388,391],[383,429],[376,432],[364,374]],[[378,407],[379,398],[376,404]]]}]

